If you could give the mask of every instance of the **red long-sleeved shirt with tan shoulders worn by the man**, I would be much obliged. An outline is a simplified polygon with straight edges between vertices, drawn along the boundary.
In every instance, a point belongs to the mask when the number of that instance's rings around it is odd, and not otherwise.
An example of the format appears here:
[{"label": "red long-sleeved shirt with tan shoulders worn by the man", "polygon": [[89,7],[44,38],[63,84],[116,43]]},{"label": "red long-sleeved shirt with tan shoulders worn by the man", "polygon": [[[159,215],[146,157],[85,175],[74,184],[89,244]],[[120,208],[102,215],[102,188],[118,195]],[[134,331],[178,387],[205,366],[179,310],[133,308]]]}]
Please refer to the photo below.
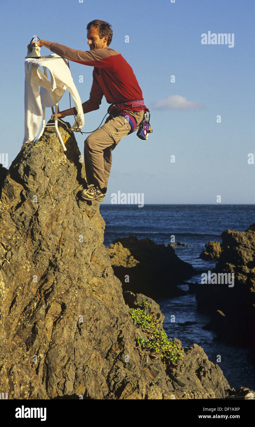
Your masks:
[{"label": "red long-sleeved shirt with tan shoulders worn by the man", "polygon": [[[89,100],[83,102],[84,113],[98,110],[103,95],[109,104],[143,98],[143,93],[132,68],[116,50],[108,47],[82,51],[70,49],[58,43],[52,43],[50,50],[70,61],[94,67]],[[118,108],[118,111],[127,109],[132,110],[132,108],[123,106],[123,108]],[[135,111],[142,109],[135,107]]]}]

